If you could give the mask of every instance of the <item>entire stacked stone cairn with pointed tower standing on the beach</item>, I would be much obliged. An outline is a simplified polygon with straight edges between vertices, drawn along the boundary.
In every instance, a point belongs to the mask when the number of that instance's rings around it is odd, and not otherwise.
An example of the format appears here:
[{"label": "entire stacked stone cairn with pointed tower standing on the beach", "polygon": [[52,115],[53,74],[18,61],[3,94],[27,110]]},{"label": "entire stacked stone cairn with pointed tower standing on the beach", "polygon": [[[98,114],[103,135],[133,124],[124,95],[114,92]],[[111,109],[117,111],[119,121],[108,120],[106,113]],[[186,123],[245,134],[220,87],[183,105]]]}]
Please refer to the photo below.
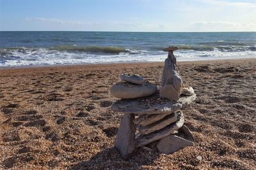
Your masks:
[{"label": "entire stacked stone cairn with pointed tower standing on the beach", "polygon": [[184,116],[180,109],[195,101],[196,94],[192,87],[182,87],[173,55],[175,50],[179,47],[164,48],[168,58],[164,61],[159,91],[156,85],[137,74],[120,74],[123,81],[110,89],[111,95],[120,99],[113,103],[112,110],[124,113],[115,140],[115,147],[123,159],[128,159],[136,148],[152,150],[145,145],[154,141],[158,141],[159,152],[165,154],[194,145],[195,138],[183,125]]}]

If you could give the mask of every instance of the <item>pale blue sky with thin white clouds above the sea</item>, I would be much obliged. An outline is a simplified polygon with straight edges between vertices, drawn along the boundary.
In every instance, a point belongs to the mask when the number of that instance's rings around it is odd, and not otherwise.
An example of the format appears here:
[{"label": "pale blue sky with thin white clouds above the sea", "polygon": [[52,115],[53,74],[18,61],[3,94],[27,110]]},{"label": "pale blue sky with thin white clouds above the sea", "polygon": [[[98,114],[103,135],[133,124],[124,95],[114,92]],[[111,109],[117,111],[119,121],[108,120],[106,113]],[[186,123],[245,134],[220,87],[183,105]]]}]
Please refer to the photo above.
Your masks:
[{"label": "pale blue sky with thin white clouds above the sea", "polygon": [[256,31],[256,0],[0,0],[0,31]]}]

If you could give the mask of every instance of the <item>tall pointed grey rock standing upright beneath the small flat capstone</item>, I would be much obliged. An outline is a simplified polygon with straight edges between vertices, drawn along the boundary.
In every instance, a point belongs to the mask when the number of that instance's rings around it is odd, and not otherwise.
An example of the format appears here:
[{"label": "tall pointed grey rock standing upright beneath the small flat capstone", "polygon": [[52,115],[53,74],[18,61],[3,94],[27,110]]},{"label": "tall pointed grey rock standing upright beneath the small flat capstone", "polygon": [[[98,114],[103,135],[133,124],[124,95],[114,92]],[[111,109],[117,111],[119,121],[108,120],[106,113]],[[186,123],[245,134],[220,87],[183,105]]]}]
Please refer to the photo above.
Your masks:
[{"label": "tall pointed grey rock standing upright beneath the small flat capstone", "polygon": [[177,68],[177,60],[172,51],[168,52],[168,58],[164,61],[164,70],[159,90],[160,97],[179,100],[181,94],[182,80]]}]

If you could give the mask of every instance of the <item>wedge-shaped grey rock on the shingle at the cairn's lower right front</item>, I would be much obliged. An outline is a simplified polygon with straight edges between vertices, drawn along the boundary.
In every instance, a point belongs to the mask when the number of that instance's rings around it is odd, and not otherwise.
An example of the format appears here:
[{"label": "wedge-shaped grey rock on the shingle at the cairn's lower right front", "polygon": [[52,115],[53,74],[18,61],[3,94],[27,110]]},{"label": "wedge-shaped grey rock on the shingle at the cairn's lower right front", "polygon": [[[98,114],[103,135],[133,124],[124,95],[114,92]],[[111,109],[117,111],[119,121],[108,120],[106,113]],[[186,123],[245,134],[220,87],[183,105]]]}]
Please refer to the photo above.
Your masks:
[{"label": "wedge-shaped grey rock on the shingle at the cairn's lower right front", "polygon": [[186,146],[193,145],[194,143],[191,141],[170,134],[169,136],[166,136],[165,138],[159,141],[159,143],[157,144],[157,149],[159,150],[160,153],[170,154],[177,152],[178,150]]}]

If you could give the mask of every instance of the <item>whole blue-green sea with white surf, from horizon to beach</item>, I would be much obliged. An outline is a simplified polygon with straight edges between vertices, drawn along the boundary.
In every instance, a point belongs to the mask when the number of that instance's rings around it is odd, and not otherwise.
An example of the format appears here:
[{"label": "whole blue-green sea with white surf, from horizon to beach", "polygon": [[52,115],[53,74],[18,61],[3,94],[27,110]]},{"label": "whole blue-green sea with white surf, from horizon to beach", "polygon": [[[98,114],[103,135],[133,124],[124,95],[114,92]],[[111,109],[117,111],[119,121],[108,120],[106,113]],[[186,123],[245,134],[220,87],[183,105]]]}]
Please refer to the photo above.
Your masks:
[{"label": "whole blue-green sea with white surf, from horizon to beach", "polygon": [[0,67],[164,61],[256,59],[256,32],[0,31]]}]

